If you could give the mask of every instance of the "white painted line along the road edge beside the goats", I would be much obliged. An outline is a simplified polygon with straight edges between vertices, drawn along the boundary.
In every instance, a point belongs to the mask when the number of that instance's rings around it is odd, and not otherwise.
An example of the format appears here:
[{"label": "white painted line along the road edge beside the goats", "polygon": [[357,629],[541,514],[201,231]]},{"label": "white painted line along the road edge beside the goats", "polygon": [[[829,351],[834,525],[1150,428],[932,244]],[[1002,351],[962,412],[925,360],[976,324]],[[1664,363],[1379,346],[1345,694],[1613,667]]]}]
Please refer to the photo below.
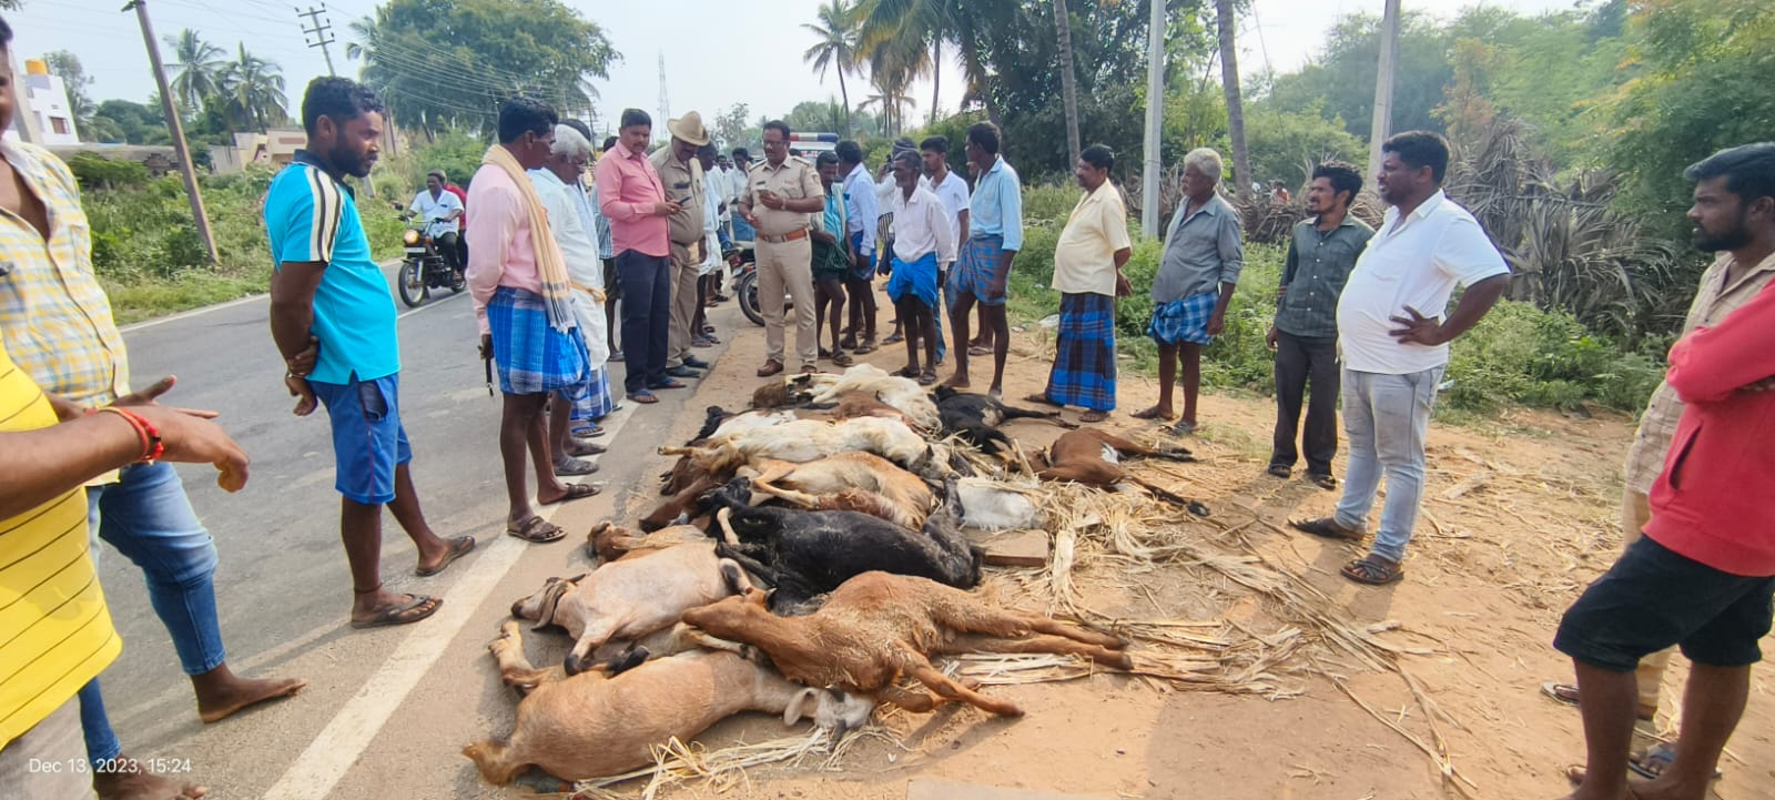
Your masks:
[{"label": "white painted line along the road edge beside the goats", "polygon": [[[428,307],[406,314],[417,314]],[[634,415],[632,404],[612,413],[616,419],[605,422],[609,436],[614,438],[621,433],[630,415]],[[561,506],[541,506],[538,514],[543,520],[554,520],[559,509]],[[486,601],[527,548],[529,545],[511,536],[497,536],[490,543],[481,543],[477,548],[481,553],[451,587],[444,607],[431,619],[412,626],[412,633],[396,646],[376,674],[344,702],[327,727],[314,736],[309,749],[272,784],[264,800],[323,800],[332,793],[364,749],[382,733],[389,717],[431,671],[431,665],[456,639],[474,610]]]}]

